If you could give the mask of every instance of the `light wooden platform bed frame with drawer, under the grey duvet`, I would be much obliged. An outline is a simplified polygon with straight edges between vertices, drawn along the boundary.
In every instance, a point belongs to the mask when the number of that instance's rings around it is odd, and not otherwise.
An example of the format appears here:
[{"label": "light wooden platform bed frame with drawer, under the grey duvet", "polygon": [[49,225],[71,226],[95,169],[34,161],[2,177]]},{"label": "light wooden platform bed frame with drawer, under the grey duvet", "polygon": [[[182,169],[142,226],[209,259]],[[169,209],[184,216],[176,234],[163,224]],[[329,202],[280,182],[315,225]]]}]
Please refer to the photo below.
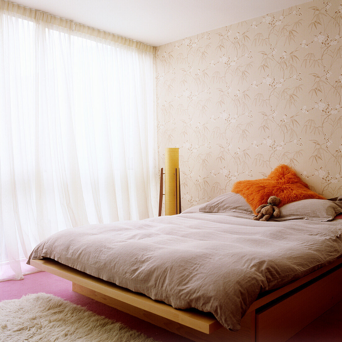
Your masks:
[{"label": "light wooden platform bed frame with drawer, under the grey duvet", "polygon": [[34,267],[73,282],[73,291],[144,319],[190,340],[286,341],[342,299],[342,258],[258,297],[231,332],[210,313],[177,310],[141,293],[119,287],[52,259],[30,260]]}]

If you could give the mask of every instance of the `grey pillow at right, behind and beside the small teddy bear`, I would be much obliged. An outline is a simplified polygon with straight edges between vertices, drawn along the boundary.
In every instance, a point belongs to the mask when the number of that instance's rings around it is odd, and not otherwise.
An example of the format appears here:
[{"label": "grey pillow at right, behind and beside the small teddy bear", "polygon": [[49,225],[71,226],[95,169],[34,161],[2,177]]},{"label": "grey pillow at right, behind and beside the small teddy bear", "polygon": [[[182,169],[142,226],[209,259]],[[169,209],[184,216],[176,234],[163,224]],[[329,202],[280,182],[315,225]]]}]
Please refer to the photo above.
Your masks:
[{"label": "grey pillow at right, behind and beside the small teddy bear", "polygon": [[301,201],[291,202],[284,205],[280,209],[279,218],[274,218],[274,220],[330,221],[340,213],[342,213],[342,201],[303,199]]}]

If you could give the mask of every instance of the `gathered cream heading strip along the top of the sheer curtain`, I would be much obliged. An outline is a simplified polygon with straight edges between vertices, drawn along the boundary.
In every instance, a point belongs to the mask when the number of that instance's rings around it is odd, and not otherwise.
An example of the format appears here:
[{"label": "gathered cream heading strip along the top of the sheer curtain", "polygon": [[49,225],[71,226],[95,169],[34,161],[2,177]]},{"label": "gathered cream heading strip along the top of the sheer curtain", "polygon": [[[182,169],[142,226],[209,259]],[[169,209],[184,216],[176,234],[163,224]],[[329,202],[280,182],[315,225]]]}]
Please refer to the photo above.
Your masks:
[{"label": "gathered cream heading strip along the top of the sheer curtain", "polygon": [[118,43],[121,45],[126,45],[134,49],[151,52],[151,53],[154,53],[155,51],[155,47],[151,45],[148,45],[148,44],[136,41],[136,40],[132,40],[129,38],[125,38],[119,35],[115,35],[113,33],[106,32],[97,28],[93,28],[87,25],[76,23],[68,19],[63,19],[63,18],[57,17],[49,13],[45,13],[45,12],[34,10],[34,9],[31,9],[22,5],[18,5],[14,2],[10,2],[7,0],[0,0],[0,10],[3,10],[8,13],[19,14],[21,16],[29,18],[38,23],[43,22],[47,24],[52,24],[52,25],[59,26],[65,29],[69,29],[70,31],[73,31],[73,32],[79,32],[81,34],[86,34],[95,38],[100,38],[100,39],[104,39],[104,40]]}]

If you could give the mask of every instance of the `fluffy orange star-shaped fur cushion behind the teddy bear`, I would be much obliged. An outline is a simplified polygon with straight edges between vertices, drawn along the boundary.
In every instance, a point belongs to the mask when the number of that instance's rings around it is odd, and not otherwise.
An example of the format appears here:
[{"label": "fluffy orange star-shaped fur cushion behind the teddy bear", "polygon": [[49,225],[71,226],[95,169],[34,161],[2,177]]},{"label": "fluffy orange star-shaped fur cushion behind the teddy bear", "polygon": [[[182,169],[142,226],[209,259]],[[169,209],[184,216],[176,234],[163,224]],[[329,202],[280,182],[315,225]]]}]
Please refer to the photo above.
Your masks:
[{"label": "fluffy orange star-shaped fur cushion behind the teddy bear", "polygon": [[302,199],[326,199],[309,189],[295,171],[287,165],[278,165],[266,178],[237,181],[232,192],[240,194],[254,210],[266,204],[270,196],[277,196],[281,202],[278,207]]}]

